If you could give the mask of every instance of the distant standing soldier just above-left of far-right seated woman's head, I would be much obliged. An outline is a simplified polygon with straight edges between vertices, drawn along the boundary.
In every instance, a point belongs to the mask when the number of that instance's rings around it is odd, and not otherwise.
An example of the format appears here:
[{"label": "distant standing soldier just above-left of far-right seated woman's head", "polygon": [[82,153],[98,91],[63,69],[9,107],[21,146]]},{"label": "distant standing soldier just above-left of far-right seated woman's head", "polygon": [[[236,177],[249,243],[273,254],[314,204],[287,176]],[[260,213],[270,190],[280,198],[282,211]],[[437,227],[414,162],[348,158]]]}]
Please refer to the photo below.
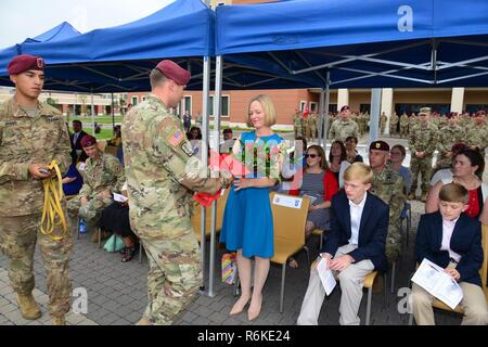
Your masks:
[{"label": "distant standing soldier just above-left of far-right seated woman's head", "polygon": [[[463,142],[465,139],[463,129],[458,126],[458,116],[451,113],[448,115],[448,125],[442,127],[439,131],[439,142],[437,144],[439,154],[435,171],[451,167],[452,145],[458,142]],[[435,171],[433,174],[435,174]]]}]

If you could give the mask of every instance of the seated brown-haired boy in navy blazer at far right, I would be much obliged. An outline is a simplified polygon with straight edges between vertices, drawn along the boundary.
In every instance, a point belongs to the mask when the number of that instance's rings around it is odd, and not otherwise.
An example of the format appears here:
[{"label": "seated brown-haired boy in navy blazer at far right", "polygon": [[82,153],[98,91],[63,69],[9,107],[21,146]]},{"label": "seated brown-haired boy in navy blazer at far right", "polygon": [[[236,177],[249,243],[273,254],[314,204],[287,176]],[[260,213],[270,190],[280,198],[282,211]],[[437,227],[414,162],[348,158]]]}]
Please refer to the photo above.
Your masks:
[{"label": "seated brown-haired boy in navy blazer at far right", "polygon": [[[479,269],[483,265],[481,224],[463,214],[468,192],[458,183],[449,183],[439,192],[439,210],[423,215],[415,241],[416,261],[424,258],[445,268],[463,291],[463,325],[488,324],[488,308],[481,290]],[[412,285],[412,308],[416,324],[434,325],[434,296],[420,285]]]}]

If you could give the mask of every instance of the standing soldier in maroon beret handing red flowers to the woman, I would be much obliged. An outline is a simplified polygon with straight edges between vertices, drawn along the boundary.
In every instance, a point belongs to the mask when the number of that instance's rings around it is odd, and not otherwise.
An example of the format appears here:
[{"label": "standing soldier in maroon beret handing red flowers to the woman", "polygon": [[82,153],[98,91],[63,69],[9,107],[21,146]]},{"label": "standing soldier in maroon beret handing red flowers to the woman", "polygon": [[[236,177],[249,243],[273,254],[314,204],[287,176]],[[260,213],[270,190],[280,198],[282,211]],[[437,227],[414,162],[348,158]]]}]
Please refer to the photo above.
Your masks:
[{"label": "standing soldier in maroon beret handing red flowers to the woman", "polygon": [[129,219],[147,255],[149,304],[138,324],[171,324],[202,282],[201,253],[190,214],[195,191],[215,194],[223,178],[203,178],[181,121],[170,114],[190,73],[171,61],[151,72],[152,93],[123,123]]}]

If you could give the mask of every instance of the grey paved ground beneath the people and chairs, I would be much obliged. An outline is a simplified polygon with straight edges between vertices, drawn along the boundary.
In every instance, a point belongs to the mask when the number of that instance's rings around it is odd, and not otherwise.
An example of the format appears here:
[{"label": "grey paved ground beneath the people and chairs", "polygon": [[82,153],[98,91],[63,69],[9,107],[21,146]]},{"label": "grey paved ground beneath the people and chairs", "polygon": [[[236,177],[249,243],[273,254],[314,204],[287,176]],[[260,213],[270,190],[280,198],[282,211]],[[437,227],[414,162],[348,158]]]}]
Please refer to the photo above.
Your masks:
[{"label": "grey paved ground beneath the people and chairs", "polygon": [[[416,224],[419,214],[423,204],[414,203],[413,224]],[[87,312],[76,314],[70,312],[67,317],[69,324],[103,324],[103,325],[128,325],[134,324],[141,317],[146,305],[145,274],[147,265],[145,257],[142,264],[134,258],[132,261],[123,264],[119,254],[107,253],[99,249],[97,244],[90,242],[90,234],[84,234],[75,242],[72,254],[70,275],[73,287],[77,292],[86,288],[88,294]],[[396,291],[398,287],[407,286],[408,277],[412,272],[414,230],[410,233],[410,244],[406,247],[404,257],[400,269],[397,270]],[[207,244],[208,245],[208,244]],[[311,257],[317,256],[318,239],[309,240]],[[208,249],[208,247],[207,247]],[[220,259],[223,249],[218,250],[217,258]],[[8,260],[0,256],[0,324],[8,325],[36,325],[50,324],[47,312],[47,287],[46,274],[41,259],[36,253],[35,296],[41,305],[43,316],[37,321],[26,321],[21,318],[15,303],[15,295],[10,288],[7,275]],[[299,269],[286,270],[286,287],[284,311],[279,312],[279,294],[281,268],[272,266],[266,288],[264,292],[264,306],[261,316],[251,324],[253,325],[290,325],[295,324],[299,313],[301,299],[308,283],[308,269],[305,254],[297,257]],[[219,262],[217,262],[219,265]],[[246,314],[229,317],[228,312],[235,300],[232,295],[232,286],[220,282],[220,272],[216,269],[215,296],[198,296],[197,300],[189,307],[176,324],[183,325],[247,325]],[[389,281],[388,281],[389,282]],[[365,293],[365,292],[364,292]],[[326,298],[320,316],[320,324],[338,323],[339,290],[336,288],[331,297]],[[75,295],[73,301],[75,307],[79,296]],[[364,318],[365,295],[362,300],[360,317]],[[401,297],[397,294],[387,293],[385,305],[385,293],[373,294],[372,324],[407,324],[408,314],[400,314],[397,305]],[[79,304],[79,301],[78,301]],[[453,313],[437,311],[436,319],[439,324],[459,324],[460,317]]]}]

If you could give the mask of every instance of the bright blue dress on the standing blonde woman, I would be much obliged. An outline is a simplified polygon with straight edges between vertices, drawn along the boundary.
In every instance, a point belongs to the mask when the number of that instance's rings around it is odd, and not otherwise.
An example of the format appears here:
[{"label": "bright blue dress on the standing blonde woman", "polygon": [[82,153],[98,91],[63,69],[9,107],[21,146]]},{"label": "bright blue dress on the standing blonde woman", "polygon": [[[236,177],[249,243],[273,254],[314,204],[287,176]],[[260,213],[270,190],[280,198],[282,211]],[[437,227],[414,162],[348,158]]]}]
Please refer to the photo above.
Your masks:
[{"label": "bright blue dress on the standing blonde woman", "polygon": [[[249,153],[249,147],[253,150],[253,146],[265,147],[268,152],[279,149],[281,151],[280,144],[282,141],[283,139],[275,133],[257,140],[254,131],[243,132],[240,159],[243,158],[242,153],[246,152],[245,147],[247,147],[247,153]],[[278,146],[278,149],[274,146]],[[258,159],[256,153],[254,155],[253,163],[256,165]],[[242,162],[244,163],[244,160]],[[274,164],[268,163],[268,168],[270,165],[273,166]],[[247,165],[247,167],[249,166]],[[268,170],[267,172],[269,174]],[[265,176],[268,175],[254,168],[254,172],[246,175],[246,178]],[[270,189],[245,188],[236,192],[233,185],[230,188],[220,233],[220,242],[226,244],[227,249],[237,250],[242,248],[243,255],[247,258],[253,256],[271,258],[274,255],[273,218],[269,201]]]}]

